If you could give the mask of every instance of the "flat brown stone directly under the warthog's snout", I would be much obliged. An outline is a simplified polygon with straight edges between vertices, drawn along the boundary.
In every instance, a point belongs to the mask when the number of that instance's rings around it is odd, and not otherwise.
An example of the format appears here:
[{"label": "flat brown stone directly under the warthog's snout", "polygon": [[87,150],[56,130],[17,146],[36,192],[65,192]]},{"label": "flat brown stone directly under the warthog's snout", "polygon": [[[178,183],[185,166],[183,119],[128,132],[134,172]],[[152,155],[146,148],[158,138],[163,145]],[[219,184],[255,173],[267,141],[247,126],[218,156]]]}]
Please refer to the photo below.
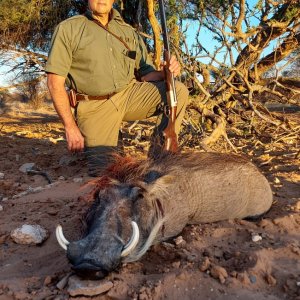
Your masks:
[{"label": "flat brown stone directly under the warthog's snout", "polygon": [[113,287],[113,283],[108,280],[80,280],[77,276],[69,279],[68,293],[72,296],[97,296],[107,292]]}]

